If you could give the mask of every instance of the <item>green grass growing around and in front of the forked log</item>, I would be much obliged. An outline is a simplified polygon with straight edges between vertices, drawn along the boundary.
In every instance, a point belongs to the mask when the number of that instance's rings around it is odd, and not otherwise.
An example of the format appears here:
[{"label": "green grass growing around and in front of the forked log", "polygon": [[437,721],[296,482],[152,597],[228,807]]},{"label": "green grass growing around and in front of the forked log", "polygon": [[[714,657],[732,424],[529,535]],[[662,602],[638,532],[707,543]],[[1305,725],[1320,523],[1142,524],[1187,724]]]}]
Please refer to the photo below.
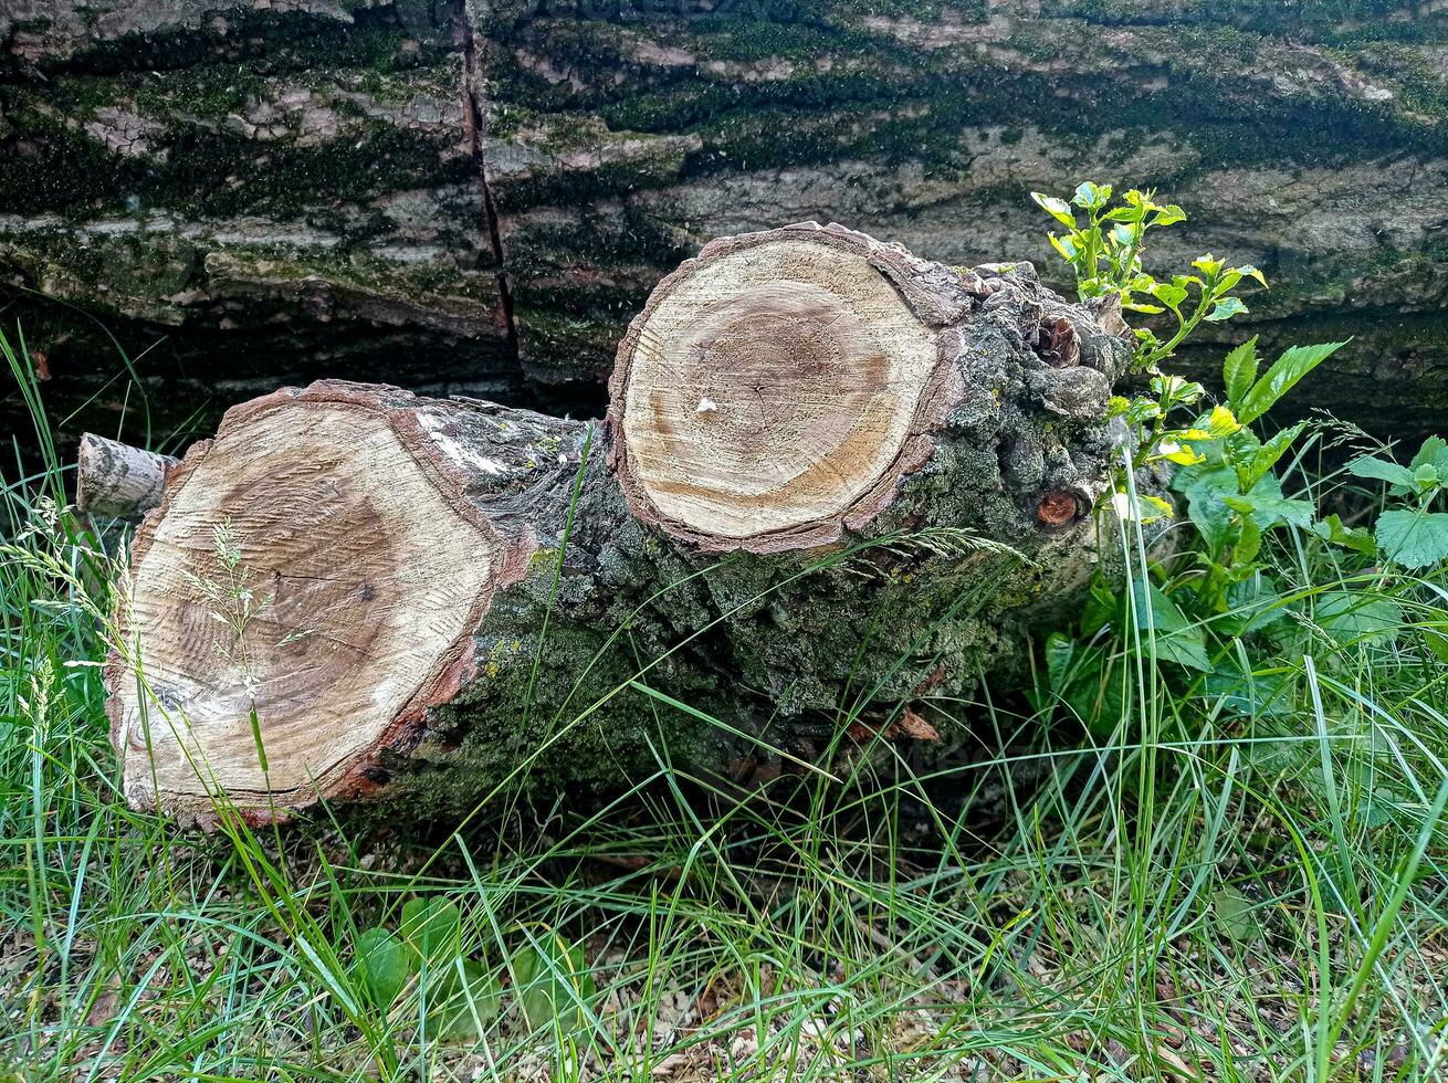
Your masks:
[{"label": "green grass growing around and in front of the forked log", "polygon": [[[203,837],[117,791],[98,663],[123,539],[65,510],[41,405],[46,468],[9,471],[0,513],[0,1077],[1448,1073],[1441,566],[1344,568],[1274,531],[1293,634],[1228,643],[1283,689],[1245,714],[1148,630],[1099,640],[1124,704],[1105,727],[1044,689],[930,701],[975,734],[954,766],[786,773],[744,801],[659,747],[601,809],[510,792],[463,831],[223,817]],[[1292,488],[1371,513],[1300,462]],[[1319,611],[1345,586],[1377,615],[1352,634]],[[372,1006],[353,945],[418,895],[504,976],[549,931],[582,944],[582,1025],[534,1029],[505,990],[458,1044],[416,983]]]}]

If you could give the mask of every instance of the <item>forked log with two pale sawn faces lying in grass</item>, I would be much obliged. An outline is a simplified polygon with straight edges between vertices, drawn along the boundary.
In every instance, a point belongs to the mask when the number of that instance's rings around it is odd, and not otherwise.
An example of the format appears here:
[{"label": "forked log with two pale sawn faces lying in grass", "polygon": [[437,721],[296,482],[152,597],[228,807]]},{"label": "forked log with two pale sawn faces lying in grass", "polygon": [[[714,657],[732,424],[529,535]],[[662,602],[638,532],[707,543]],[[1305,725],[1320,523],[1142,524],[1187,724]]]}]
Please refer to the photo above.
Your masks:
[{"label": "forked log with two pale sawn faces lying in grass", "polygon": [[608,789],[665,747],[840,769],[851,722],[1018,665],[1077,597],[1129,353],[1028,264],[805,224],[659,285],[601,430],[346,382],[235,407],[135,543],[126,793],[427,815],[514,778]]}]

